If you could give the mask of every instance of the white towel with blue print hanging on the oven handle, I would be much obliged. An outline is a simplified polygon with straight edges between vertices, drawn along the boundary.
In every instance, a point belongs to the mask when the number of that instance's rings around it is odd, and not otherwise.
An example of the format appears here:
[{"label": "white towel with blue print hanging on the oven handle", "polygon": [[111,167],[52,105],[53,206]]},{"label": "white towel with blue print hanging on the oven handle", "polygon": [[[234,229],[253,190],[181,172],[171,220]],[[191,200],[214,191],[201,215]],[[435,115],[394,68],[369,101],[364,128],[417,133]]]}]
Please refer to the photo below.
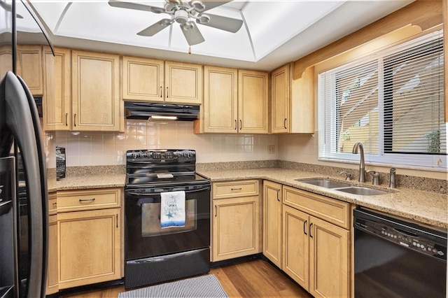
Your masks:
[{"label": "white towel with blue print hanging on the oven handle", "polygon": [[160,193],[160,227],[185,227],[185,192]]}]

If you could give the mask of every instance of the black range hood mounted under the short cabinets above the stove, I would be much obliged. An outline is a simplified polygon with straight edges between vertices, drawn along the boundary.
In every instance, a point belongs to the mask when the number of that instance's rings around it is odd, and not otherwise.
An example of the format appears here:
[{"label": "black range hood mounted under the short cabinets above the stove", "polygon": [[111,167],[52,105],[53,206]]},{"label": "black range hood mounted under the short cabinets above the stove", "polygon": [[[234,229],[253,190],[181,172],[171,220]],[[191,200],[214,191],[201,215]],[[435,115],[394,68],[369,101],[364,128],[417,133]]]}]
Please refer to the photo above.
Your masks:
[{"label": "black range hood mounted under the short cabinets above the stove", "polygon": [[193,121],[199,106],[164,104],[144,101],[125,101],[126,119]]}]

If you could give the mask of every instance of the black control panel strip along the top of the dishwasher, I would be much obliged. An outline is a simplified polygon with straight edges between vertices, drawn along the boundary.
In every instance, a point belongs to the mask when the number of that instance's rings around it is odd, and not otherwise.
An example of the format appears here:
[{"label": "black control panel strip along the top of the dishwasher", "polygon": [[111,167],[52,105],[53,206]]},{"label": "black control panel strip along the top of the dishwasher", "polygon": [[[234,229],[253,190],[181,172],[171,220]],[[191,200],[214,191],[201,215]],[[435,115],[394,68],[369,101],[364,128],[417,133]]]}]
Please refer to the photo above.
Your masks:
[{"label": "black control panel strip along the top of the dishwasher", "polygon": [[355,227],[425,255],[447,260],[447,243],[437,243],[431,239],[432,237],[423,236],[419,232],[360,218],[356,218]]}]

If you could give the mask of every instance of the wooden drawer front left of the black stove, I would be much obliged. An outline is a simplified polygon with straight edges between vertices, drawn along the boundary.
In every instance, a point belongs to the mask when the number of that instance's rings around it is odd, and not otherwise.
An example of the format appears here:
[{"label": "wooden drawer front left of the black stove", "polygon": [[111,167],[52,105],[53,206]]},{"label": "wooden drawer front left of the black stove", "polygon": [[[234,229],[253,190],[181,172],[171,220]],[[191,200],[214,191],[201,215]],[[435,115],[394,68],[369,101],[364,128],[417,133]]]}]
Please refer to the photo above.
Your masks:
[{"label": "wooden drawer front left of the black stove", "polygon": [[120,188],[57,192],[57,211],[83,211],[120,207]]}]

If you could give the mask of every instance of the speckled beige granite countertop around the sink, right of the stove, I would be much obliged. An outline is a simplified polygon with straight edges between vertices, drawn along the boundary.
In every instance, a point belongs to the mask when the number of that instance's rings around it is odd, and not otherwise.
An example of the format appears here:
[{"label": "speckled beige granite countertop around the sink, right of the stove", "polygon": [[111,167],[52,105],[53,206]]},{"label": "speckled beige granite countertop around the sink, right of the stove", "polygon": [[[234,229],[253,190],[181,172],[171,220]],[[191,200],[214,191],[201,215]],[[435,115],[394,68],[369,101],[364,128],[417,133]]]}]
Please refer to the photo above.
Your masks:
[{"label": "speckled beige granite countertop around the sink, right of the stove", "polygon": [[353,185],[361,185],[386,190],[390,193],[375,196],[362,196],[330,190],[307,183],[296,181],[295,179],[307,178],[330,178],[341,181],[339,177],[325,176],[318,173],[297,171],[281,168],[269,169],[232,169],[232,170],[202,170],[200,174],[207,176],[212,182],[225,180],[242,179],[267,179],[283,185],[289,185],[301,190],[307,190],[316,194],[339,199],[349,203],[357,204],[376,211],[382,211],[391,215],[398,215],[409,220],[432,225],[435,227],[448,227],[447,215],[447,194],[436,192],[423,192],[409,188],[397,187],[394,189],[372,185],[372,183],[358,183],[357,180],[343,181]]}]

